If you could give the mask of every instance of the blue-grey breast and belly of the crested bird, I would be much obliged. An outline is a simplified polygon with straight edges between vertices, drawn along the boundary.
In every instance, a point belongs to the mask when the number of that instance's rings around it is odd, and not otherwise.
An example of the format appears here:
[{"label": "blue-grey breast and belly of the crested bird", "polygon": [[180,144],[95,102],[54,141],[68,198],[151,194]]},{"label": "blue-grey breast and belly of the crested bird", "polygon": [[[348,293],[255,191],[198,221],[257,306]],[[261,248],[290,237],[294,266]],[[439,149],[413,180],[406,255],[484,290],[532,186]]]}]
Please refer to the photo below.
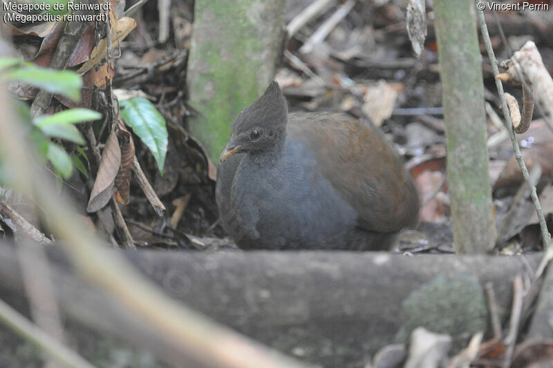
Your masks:
[{"label": "blue-grey breast and belly of the crested bird", "polygon": [[301,140],[287,139],[279,159],[254,159],[246,156],[238,165],[232,202],[238,217],[263,241],[274,247],[321,244],[355,224],[355,211],[323,177]]}]

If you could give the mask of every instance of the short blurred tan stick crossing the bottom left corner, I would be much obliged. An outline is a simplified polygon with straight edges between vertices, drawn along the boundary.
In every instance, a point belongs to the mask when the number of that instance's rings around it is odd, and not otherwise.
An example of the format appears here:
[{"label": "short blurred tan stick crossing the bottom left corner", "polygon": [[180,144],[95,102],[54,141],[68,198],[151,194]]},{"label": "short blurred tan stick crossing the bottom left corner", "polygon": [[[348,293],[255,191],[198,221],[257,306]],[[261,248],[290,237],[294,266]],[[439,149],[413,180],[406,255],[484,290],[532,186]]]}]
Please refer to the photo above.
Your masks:
[{"label": "short blurred tan stick crossing the bottom left corner", "polygon": [[91,363],[84,360],[75,351],[62,345],[36,325],[33,325],[27,318],[21,316],[21,314],[12,309],[3,300],[0,300],[0,320],[19,333],[21,337],[44,349],[49,356],[65,367],[94,368]]}]

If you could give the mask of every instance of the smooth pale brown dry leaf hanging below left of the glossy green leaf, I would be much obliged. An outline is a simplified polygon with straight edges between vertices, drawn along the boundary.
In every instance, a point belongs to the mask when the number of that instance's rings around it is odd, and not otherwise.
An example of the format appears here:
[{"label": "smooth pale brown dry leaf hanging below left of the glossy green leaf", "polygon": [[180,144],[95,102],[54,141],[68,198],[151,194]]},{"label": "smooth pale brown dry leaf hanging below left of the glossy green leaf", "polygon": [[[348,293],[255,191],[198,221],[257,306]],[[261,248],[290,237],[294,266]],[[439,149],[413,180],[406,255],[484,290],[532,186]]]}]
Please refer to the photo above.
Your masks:
[{"label": "smooth pale brown dry leaf hanging below left of the glossy green leaf", "polygon": [[96,180],[92,188],[91,198],[88,200],[86,211],[88,213],[96,212],[105,206],[111,198],[111,190],[115,181],[115,175],[119,171],[121,164],[121,149],[115,131],[111,131],[102,159],[100,160],[100,168],[96,175]]}]

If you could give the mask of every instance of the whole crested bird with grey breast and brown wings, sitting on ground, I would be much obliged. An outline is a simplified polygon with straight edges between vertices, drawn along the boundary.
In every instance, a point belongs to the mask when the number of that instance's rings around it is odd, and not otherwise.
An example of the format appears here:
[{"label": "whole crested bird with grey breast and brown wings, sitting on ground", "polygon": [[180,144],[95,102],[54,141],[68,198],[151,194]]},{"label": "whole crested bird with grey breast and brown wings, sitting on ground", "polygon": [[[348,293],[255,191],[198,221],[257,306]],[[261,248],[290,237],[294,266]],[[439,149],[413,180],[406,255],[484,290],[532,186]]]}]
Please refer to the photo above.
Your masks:
[{"label": "whole crested bird with grey breast and brown wings, sitting on ground", "polygon": [[344,114],[288,115],[274,81],[232,124],[216,202],[244,249],[385,249],[419,211],[381,130]]}]

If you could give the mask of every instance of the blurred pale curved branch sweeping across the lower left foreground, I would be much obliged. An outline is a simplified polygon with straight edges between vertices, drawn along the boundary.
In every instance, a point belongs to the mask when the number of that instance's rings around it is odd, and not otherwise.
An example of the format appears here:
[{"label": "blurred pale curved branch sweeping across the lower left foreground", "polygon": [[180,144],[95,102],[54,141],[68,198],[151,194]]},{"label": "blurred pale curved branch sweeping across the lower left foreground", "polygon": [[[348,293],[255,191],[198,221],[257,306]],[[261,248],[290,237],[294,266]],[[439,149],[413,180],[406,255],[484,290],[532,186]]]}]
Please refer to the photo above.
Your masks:
[{"label": "blurred pale curved branch sweeping across the lower left foreground", "polygon": [[34,193],[80,273],[124,305],[129,313],[163,333],[168,344],[180,344],[199,361],[233,368],[307,366],[167,298],[121,255],[101,246],[100,239],[86,233],[66,198],[56,193],[50,182],[39,175],[39,170],[31,168],[32,150],[26,144],[23,125],[17,124],[17,115],[8,105],[6,86],[0,87],[0,110],[5,117],[0,124],[0,152],[4,162],[12,162],[12,184],[17,184],[21,191]]}]

